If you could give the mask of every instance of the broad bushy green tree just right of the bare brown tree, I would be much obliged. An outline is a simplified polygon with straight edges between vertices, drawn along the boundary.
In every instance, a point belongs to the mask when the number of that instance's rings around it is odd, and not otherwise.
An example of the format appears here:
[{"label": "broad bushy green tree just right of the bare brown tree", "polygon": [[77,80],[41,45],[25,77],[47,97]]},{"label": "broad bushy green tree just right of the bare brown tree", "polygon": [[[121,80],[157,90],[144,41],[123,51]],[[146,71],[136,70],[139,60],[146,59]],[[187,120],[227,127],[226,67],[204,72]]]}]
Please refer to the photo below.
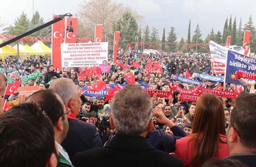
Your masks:
[{"label": "broad bushy green tree just right of the bare brown tree", "polygon": [[135,41],[138,31],[138,23],[130,11],[122,15],[113,25],[114,31],[120,31],[119,46],[126,49],[126,45]]}]

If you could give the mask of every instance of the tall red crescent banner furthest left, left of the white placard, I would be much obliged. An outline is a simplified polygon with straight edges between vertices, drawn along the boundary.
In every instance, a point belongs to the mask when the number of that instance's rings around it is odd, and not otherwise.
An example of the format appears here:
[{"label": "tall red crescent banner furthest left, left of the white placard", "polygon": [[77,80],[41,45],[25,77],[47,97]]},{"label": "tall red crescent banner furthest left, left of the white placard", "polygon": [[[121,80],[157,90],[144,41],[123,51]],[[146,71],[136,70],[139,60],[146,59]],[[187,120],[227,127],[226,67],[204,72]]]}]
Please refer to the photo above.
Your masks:
[{"label": "tall red crescent banner furthest left, left of the white placard", "polygon": [[[59,17],[54,15],[53,18]],[[52,64],[55,68],[61,68],[61,43],[63,43],[64,23],[62,19],[52,25]]]}]

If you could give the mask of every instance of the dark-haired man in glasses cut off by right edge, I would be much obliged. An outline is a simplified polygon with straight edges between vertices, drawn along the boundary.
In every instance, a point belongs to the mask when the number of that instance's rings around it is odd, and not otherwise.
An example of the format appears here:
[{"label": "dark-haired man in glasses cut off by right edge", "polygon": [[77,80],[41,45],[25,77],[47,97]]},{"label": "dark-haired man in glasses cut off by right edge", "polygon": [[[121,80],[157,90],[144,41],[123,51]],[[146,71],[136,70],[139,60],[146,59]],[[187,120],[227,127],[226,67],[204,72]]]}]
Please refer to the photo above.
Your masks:
[{"label": "dark-haired man in glasses cut off by right edge", "polygon": [[227,131],[230,156],[247,166],[256,166],[256,94],[237,97]]}]

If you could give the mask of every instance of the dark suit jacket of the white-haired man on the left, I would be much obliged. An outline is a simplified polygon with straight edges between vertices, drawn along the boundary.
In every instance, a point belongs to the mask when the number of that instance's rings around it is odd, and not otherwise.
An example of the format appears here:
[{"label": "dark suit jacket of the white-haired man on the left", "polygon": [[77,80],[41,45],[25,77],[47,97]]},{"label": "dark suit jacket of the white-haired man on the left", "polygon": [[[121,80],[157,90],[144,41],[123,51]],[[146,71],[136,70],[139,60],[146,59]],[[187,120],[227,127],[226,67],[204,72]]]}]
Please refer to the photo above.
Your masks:
[{"label": "dark suit jacket of the white-haired man on the left", "polygon": [[67,151],[71,161],[78,152],[102,147],[95,125],[72,118],[69,118],[68,122],[68,134],[61,145]]}]

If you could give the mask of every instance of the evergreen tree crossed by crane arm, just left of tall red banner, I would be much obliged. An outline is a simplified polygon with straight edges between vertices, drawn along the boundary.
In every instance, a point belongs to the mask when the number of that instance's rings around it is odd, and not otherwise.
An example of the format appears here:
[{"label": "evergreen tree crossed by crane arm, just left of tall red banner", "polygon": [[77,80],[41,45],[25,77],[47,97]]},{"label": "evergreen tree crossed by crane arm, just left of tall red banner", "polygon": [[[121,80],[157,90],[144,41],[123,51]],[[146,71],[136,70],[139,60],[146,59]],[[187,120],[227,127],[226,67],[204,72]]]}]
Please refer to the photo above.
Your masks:
[{"label": "evergreen tree crossed by crane arm, just left of tall red banner", "polygon": [[[40,17],[38,11],[35,11],[30,21],[30,28],[31,29],[35,28],[36,26],[39,26],[43,23],[44,23],[44,19]],[[51,25],[31,34],[31,36],[35,36],[35,37],[51,37],[51,35],[52,35]]]}]

